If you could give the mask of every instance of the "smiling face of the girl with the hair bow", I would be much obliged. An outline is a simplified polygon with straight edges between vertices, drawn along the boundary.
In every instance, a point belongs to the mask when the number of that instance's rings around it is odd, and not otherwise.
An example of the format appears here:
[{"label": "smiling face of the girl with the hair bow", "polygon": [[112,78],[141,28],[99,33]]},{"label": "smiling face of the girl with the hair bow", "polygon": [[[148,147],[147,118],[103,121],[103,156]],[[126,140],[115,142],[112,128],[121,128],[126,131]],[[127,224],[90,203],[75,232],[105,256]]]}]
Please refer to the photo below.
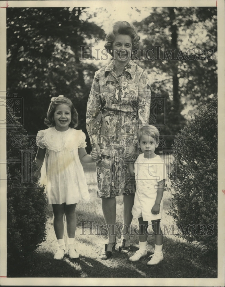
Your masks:
[{"label": "smiling face of the girl with the hair bow", "polygon": [[71,123],[71,109],[66,104],[56,106],[54,112],[55,128],[57,131],[67,131]]}]

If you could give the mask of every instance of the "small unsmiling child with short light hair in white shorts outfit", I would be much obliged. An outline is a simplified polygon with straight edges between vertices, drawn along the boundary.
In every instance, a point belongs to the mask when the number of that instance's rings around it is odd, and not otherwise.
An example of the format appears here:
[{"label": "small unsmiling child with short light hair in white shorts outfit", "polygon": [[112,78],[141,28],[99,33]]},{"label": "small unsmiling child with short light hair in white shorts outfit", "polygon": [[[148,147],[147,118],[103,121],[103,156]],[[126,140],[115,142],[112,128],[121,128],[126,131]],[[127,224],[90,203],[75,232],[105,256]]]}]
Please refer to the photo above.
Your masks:
[{"label": "small unsmiling child with short light hair in white shorts outfit", "polygon": [[134,164],[129,164],[129,171],[135,176],[136,193],[132,208],[133,216],[139,222],[139,250],[129,258],[137,261],[147,255],[147,228],[151,222],[154,231],[155,251],[147,265],[158,264],[163,260],[163,234],[160,219],[163,210],[163,191],[166,180],[166,167],[160,156],[155,154],[158,147],[159,131],[152,125],[138,130],[138,141],[142,154]]}]

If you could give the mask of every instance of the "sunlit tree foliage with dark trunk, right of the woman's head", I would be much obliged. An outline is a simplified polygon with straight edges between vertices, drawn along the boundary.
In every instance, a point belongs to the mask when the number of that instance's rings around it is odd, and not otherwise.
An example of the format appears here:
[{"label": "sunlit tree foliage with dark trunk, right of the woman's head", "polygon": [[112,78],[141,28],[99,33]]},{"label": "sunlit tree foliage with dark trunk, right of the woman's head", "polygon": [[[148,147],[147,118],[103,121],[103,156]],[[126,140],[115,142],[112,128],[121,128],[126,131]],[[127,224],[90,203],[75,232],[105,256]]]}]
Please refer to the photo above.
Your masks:
[{"label": "sunlit tree foliage with dark trunk, right of the woman's head", "polygon": [[156,124],[165,121],[161,134],[175,135],[188,110],[193,113],[217,96],[216,7],[154,7],[134,25],[142,34],[142,49],[152,49],[141,64],[151,77],[153,97],[165,98]]}]

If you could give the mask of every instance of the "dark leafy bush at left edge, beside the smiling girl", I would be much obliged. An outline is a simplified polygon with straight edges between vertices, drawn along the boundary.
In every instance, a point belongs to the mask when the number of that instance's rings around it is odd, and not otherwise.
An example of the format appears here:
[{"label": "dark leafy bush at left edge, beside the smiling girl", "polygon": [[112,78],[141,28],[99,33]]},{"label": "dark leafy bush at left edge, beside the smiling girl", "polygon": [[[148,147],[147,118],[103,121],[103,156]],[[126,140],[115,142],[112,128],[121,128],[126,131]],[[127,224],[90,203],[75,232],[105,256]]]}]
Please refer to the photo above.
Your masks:
[{"label": "dark leafy bush at left edge, beside the smiling girl", "polygon": [[7,276],[15,276],[27,255],[45,240],[47,215],[43,188],[21,178],[22,168],[26,177],[33,174],[29,161],[24,165],[20,162],[21,149],[31,149],[28,136],[9,107],[7,115],[12,119],[7,123]]}]

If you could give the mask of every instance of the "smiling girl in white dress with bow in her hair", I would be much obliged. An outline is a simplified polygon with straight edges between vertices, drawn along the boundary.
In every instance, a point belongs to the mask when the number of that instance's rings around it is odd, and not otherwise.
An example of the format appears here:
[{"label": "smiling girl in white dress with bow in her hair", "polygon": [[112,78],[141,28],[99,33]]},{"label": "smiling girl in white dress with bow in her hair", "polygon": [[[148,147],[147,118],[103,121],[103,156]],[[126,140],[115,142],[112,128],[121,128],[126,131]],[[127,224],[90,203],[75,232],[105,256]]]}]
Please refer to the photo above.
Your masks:
[{"label": "smiling girl in white dress with bow in her hair", "polygon": [[[53,226],[58,241],[54,259],[64,257],[64,214],[66,216],[67,251],[69,257],[79,258],[74,247],[77,219],[75,209],[80,199],[89,199],[82,162],[92,162],[85,147],[85,134],[76,130],[78,114],[73,103],[60,95],[51,99],[47,118],[49,127],[38,132],[36,164],[41,168],[40,182],[46,185],[48,204],[52,204]],[[43,165],[42,165],[43,163]]]}]

